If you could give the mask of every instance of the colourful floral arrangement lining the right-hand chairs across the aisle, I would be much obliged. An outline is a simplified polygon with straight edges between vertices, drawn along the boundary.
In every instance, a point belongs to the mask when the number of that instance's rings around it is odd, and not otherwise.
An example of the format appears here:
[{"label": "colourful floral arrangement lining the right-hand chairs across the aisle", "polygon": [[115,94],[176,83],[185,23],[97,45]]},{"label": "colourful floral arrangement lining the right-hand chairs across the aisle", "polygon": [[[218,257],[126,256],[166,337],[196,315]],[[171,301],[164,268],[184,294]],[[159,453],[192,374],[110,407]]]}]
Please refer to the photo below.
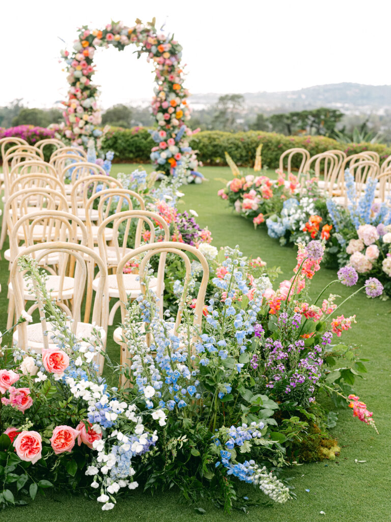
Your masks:
[{"label": "colourful floral arrangement lining the right-hand chairs across the aisle", "polygon": [[348,206],[343,208],[323,196],[316,178],[299,189],[294,175],[287,182],[282,172],[276,172],[277,180],[235,177],[218,195],[240,216],[251,219],[255,228],[264,223],[268,235],[281,245],[324,240],[327,266],[349,263],[362,279],[378,278],[384,294],[391,296],[391,202],[377,203],[378,182],[369,179],[358,197],[347,170]]}]

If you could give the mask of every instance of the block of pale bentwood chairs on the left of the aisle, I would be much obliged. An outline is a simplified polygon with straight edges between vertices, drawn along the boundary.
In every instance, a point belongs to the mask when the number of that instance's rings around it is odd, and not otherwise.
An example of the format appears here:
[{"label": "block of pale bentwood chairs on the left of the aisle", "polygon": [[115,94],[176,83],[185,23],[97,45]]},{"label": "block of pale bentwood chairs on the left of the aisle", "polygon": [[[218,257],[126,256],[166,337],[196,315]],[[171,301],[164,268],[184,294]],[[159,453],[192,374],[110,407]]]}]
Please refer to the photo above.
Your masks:
[{"label": "block of pale bentwood chairs on the left of the aisle", "polygon": [[[96,170],[97,165],[88,163],[84,153],[59,147],[50,162],[45,163],[38,147],[33,150],[25,144],[17,144],[5,150],[5,143],[0,145],[4,153],[4,185],[7,185],[3,222],[6,222],[10,240],[5,253],[10,263],[9,325],[31,300],[29,288],[18,269],[20,256],[26,254],[35,257],[46,270],[46,289],[50,291],[51,299],[55,299],[72,318],[71,328],[77,336],[88,337],[95,323],[103,327],[105,343],[107,326],[113,323],[118,307],[124,322],[125,303],[143,291],[140,280],[146,272],[145,259],[160,255],[156,275],[149,287],[159,296],[159,313],[163,318],[166,254],[174,253],[184,260],[187,280],[190,277],[189,253],[203,268],[194,316],[195,322],[200,323],[209,274],[207,262],[196,248],[170,242],[166,221],[157,213],[145,210],[139,194],[124,189],[119,181]],[[64,161],[56,161],[58,158]],[[67,194],[64,178],[70,169],[71,189]],[[127,210],[124,211],[124,207]],[[149,239],[142,245],[145,228],[149,229]],[[160,231],[162,242],[156,242],[156,229]],[[141,260],[140,255],[144,256]],[[131,260],[138,260],[140,269],[124,274],[123,268]],[[185,295],[182,295],[180,303],[184,299]],[[83,321],[82,305],[85,305]],[[28,313],[33,313],[36,307],[36,304],[32,305]],[[174,329],[179,326],[182,307],[178,308]],[[38,309],[42,309],[40,302]],[[40,350],[50,343],[50,337],[44,335],[45,328],[51,330],[51,325],[23,323],[18,326],[14,339],[19,346]],[[114,332],[114,339],[121,345],[123,362],[126,344],[122,334],[121,328]],[[102,358],[99,363],[102,371]]]}]

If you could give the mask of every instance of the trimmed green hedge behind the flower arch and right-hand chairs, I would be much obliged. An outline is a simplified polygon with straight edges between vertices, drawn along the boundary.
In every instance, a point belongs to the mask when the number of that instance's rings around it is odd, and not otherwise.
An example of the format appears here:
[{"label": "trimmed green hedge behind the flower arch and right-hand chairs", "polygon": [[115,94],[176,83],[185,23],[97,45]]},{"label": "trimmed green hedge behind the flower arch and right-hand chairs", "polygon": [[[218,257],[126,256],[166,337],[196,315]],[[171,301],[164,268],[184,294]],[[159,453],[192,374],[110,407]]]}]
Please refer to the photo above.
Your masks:
[{"label": "trimmed green hedge behind the flower arch and right-hand chairs", "polygon": [[[375,150],[383,159],[391,155],[391,148],[386,145],[343,144],[324,136],[284,136],[257,131],[235,134],[204,131],[192,136],[189,142],[194,150],[198,150],[198,158],[204,165],[226,165],[224,152],[227,151],[241,167],[252,167],[255,150],[260,143],[263,144],[262,163],[270,168],[277,168],[280,155],[292,147],[307,149],[311,156],[331,149],[344,150],[348,156],[365,150]],[[145,127],[113,128],[103,141],[106,150],[115,152],[114,161],[117,162],[148,162],[151,147],[154,145],[148,128]],[[297,161],[299,161],[298,157]]]}]

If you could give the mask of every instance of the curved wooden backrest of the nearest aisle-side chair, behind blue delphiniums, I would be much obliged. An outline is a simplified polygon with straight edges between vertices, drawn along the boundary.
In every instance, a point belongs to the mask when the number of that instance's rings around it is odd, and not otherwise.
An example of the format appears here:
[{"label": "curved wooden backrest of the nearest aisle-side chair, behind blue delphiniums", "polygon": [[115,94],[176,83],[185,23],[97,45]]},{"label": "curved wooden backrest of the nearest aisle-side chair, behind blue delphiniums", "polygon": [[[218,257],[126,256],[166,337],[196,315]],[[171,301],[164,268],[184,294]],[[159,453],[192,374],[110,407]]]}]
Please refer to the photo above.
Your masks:
[{"label": "curved wooden backrest of the nearest aisle-side chair, behind blue delphiniums", "polygon": [[[157,293],[157,297],[159,298],[158,307],[159,307],[160,317],[163,318],[164,271],[165,271],[166,255],[168,253],[178,255],[184,261],[185,268],[186,268],[186,275],[185,275],[185,278],[183,281],[184,291],[182,292],[182,295],[181,295],[181,298],[179,301],[179,307],[178,307],[178,313],[177,313],[177,317],[176,317],[174,331],[176,332],[180,325],[182,313],[186,306],[187,289],[188,289],[188,284],[189,284],[190,278],[191,278],[191,260],[190,260],[188,254],[191,254],[192,257],[196,257],[196,259],[201,264],[202,272],[203,272],[200,288],[198,290],[196,307],[194,309],[194,325],[201,326],[202,309],[203,309],[204,301],[205,301],[207,282],[209,280],[209,266],[207,264],[205,257],[201,254],[201,252],[199,252],[197,250],[197,248],[195,248],[194,246],[191,246],[191,245],[187,245],[186,243],[176,243],[174,241],[164,241],[162,243],[151,243],[149,245],[139,246],[133,252],[125,255],[118,263],[117,281],[118,281],[119,299],[120,299],[120,303],[121,303],[121,315],[123,318],[123,322],[125,321],[125,317],[126,317],[126,303],[128,301],[127,293],[126,293],[126,289],[125,289],[125,283],[124,283],[123,269],[124,269],[125,265],[131,259],[138,259],[142,254],[144,254],[144,256],[142,257],[141,262],[139,264],[140,281],[145,280],[145,277],[148,273],[148,266],[149,266],[149,261],[150,261],[151,257],[154,255],[160,256],[159,266],[157,269],[157,292],[156,293]],[[143,284],[141,285],[141,289],[142,289],[142,292],[145,294],[146,288]]]}]

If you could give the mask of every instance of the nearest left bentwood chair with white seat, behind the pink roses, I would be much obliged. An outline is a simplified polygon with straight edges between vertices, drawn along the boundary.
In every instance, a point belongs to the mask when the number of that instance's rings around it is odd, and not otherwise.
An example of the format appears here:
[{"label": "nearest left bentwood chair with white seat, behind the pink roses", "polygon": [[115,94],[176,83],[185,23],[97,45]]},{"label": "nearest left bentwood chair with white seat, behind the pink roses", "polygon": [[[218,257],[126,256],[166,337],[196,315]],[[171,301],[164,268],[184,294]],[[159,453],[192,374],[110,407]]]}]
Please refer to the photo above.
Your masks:
[{"label": "nearest left bentwood chair with white seat, behind the pink roses", "polygon": [[[107,270],[99,255],[97,255],[96,252],[92,251],[85,245],[67,243],[63,241],[48,242],[29,246],[26,248],[26,250],[18,254],[15,259],[15,263],[11,268],[11,283],[15,292],[16,316],[19,317],[25,309],[26,283],[23,283],[23,274],[18,266],[20,257],[33,256],[36,262],[39,263],[43,257],[50,256],[54,253],[59,255],[59,258],[62,259],[64,266],[69,263],[70,257],[74,258],[74,264],[76,266],[74,287],[77,289],[77,291],[73,294],[72,312],[66,312],[71,318],[71,321],[66,321],[66,325],[75,336],[75,338],[70,339],[69,344],[75,345],[75,343],[80,343],[81,346],[87,349],[90,346],[96,346],[93,333],[94,330],[96,331],[96,328],[99,327],[102,328],[102,342],[98,342],[97,345],[98,348],[105,349],[108,314],[107,294],[105,291]],[[99,270],[100,284],[96,291],[92,312],[92,323],[83,323],[81,322],[81,305],[84,295],[83,290],[87,280],[86,265],[90,262],[94,263]],[[25,274],[25,272],[26,271],[24,270],[23,273]],[[56,348],[56,337],[58,335],[64,334],[64,332],[60,332],[55,324],[47,321],[45,306],[50,305],[50,302],[52,301],[52,294],[45,296],[38,288],[38,284],[35,281],[32,281],[32,283],[35,291],[34,293],[37,303],[36,306],[38,307],[41,320],[38,323],[27,324],[26,322],[23,322],[19,324],[14,333],[13,340],[14,343],[23,350],[26,350],[27,347],[30,347],[31,349],[35,350],[35,352],[41,352],[43,348]],[[57,302],[57,304],[59,303]],[[104,358],[100,351],[96,353],[95,361],[99,363],[99,370],[102,373]]]}]

